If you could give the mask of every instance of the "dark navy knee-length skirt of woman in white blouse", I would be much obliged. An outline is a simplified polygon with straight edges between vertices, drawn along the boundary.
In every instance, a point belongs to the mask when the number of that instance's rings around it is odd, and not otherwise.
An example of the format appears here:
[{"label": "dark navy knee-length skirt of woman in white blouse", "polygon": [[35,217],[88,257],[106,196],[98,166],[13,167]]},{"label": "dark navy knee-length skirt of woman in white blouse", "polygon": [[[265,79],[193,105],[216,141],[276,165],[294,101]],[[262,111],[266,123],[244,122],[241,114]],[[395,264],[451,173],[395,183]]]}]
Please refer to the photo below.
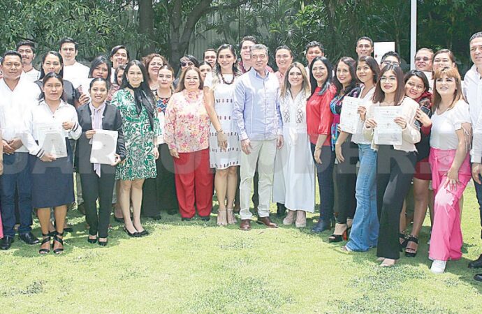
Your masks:
[{"label": "dark navy knee-length skirt of woman in white blouse", "polygon": [[31,158],[32,207],[57,207],[74,202],[73,152],[66,138],[67,157],[45,163]]}]

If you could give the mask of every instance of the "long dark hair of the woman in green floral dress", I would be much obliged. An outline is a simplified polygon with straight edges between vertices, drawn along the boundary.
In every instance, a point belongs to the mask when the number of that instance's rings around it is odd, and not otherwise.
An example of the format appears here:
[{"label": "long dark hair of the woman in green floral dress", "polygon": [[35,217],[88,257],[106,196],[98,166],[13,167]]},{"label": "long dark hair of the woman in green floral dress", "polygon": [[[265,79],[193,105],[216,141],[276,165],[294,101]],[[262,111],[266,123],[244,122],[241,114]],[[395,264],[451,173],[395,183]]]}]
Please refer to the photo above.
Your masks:
[{"label": "long dark hair of the woman in green floral dress", "polygon": [[[133,87],[131,83],[127,81],[127,73],[129,73],[129,69],[132,66],[138,66],[140,68],[140,72],[143,73],[143,82],[140,83],[139,87]],[[129,61],[126,64],[126,70],[124,70],[124,75],[122,75],[122,84],[120,89],[129,88],[134,91],[134,102],[136,103],[136,112],[140,114],[143,107],[147,110],[147,116],[149,117],[149,124],[151,125],[152,130],[154,130],[154,113],[156,110],[156,101],[154,100],[154,95],[152,94],[151,89],[149,88],[149,80],[147,75],[147,70],[145,70],[145,66],[138,60]]]}]

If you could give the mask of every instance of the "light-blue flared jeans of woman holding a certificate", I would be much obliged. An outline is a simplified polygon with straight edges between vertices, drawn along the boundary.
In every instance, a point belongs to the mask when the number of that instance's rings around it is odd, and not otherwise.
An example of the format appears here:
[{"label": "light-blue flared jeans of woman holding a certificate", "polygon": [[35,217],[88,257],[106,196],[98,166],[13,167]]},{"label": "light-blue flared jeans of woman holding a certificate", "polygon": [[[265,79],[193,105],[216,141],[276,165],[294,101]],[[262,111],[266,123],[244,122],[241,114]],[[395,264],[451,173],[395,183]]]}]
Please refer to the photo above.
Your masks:
[{"label": "light-blue flared jeans of woman holding a certificate", "polygon": [[377,246],[379,220],[377,216],[377,151],[370,144],[359,144],[360,170],[356,179],[356,212],[351,226],[351,251],[367,251]]}]

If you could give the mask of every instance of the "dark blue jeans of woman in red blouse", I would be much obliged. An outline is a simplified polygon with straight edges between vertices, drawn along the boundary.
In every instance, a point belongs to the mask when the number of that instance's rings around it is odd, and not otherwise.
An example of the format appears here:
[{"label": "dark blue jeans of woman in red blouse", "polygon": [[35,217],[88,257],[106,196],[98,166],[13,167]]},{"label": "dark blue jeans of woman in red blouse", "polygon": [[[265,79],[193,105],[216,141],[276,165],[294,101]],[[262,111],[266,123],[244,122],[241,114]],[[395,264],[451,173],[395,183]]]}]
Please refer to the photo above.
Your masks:
[{"label": "dark blue jeans of woman in red blouse", "polygon": [[[314,144],[311,144],[312,156]],[[329,145],[321,148],[321,164],[316,163],[316,177],[320,193],[320,219],[330,220],[333,218],[333,203],[335,202],[335,191],[333,182],[333,167],[335,166],[335,152],[331,151]]]}]

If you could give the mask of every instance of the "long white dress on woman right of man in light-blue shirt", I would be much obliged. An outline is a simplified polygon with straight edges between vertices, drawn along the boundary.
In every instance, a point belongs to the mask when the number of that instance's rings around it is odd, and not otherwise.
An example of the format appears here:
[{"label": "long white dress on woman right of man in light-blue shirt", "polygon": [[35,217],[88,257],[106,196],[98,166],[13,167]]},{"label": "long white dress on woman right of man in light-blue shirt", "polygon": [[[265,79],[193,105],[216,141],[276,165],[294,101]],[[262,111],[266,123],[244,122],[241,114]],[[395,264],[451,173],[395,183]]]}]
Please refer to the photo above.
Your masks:
[{"label": "long white dress on woman right of man in light-blue shirt", "polygon": [[284,145],[277,150],[273,202],[287,209],[314,212],[315,166],[306,123],[306,100],[303,91],[293,100],[286,92],[280,101]]}]

